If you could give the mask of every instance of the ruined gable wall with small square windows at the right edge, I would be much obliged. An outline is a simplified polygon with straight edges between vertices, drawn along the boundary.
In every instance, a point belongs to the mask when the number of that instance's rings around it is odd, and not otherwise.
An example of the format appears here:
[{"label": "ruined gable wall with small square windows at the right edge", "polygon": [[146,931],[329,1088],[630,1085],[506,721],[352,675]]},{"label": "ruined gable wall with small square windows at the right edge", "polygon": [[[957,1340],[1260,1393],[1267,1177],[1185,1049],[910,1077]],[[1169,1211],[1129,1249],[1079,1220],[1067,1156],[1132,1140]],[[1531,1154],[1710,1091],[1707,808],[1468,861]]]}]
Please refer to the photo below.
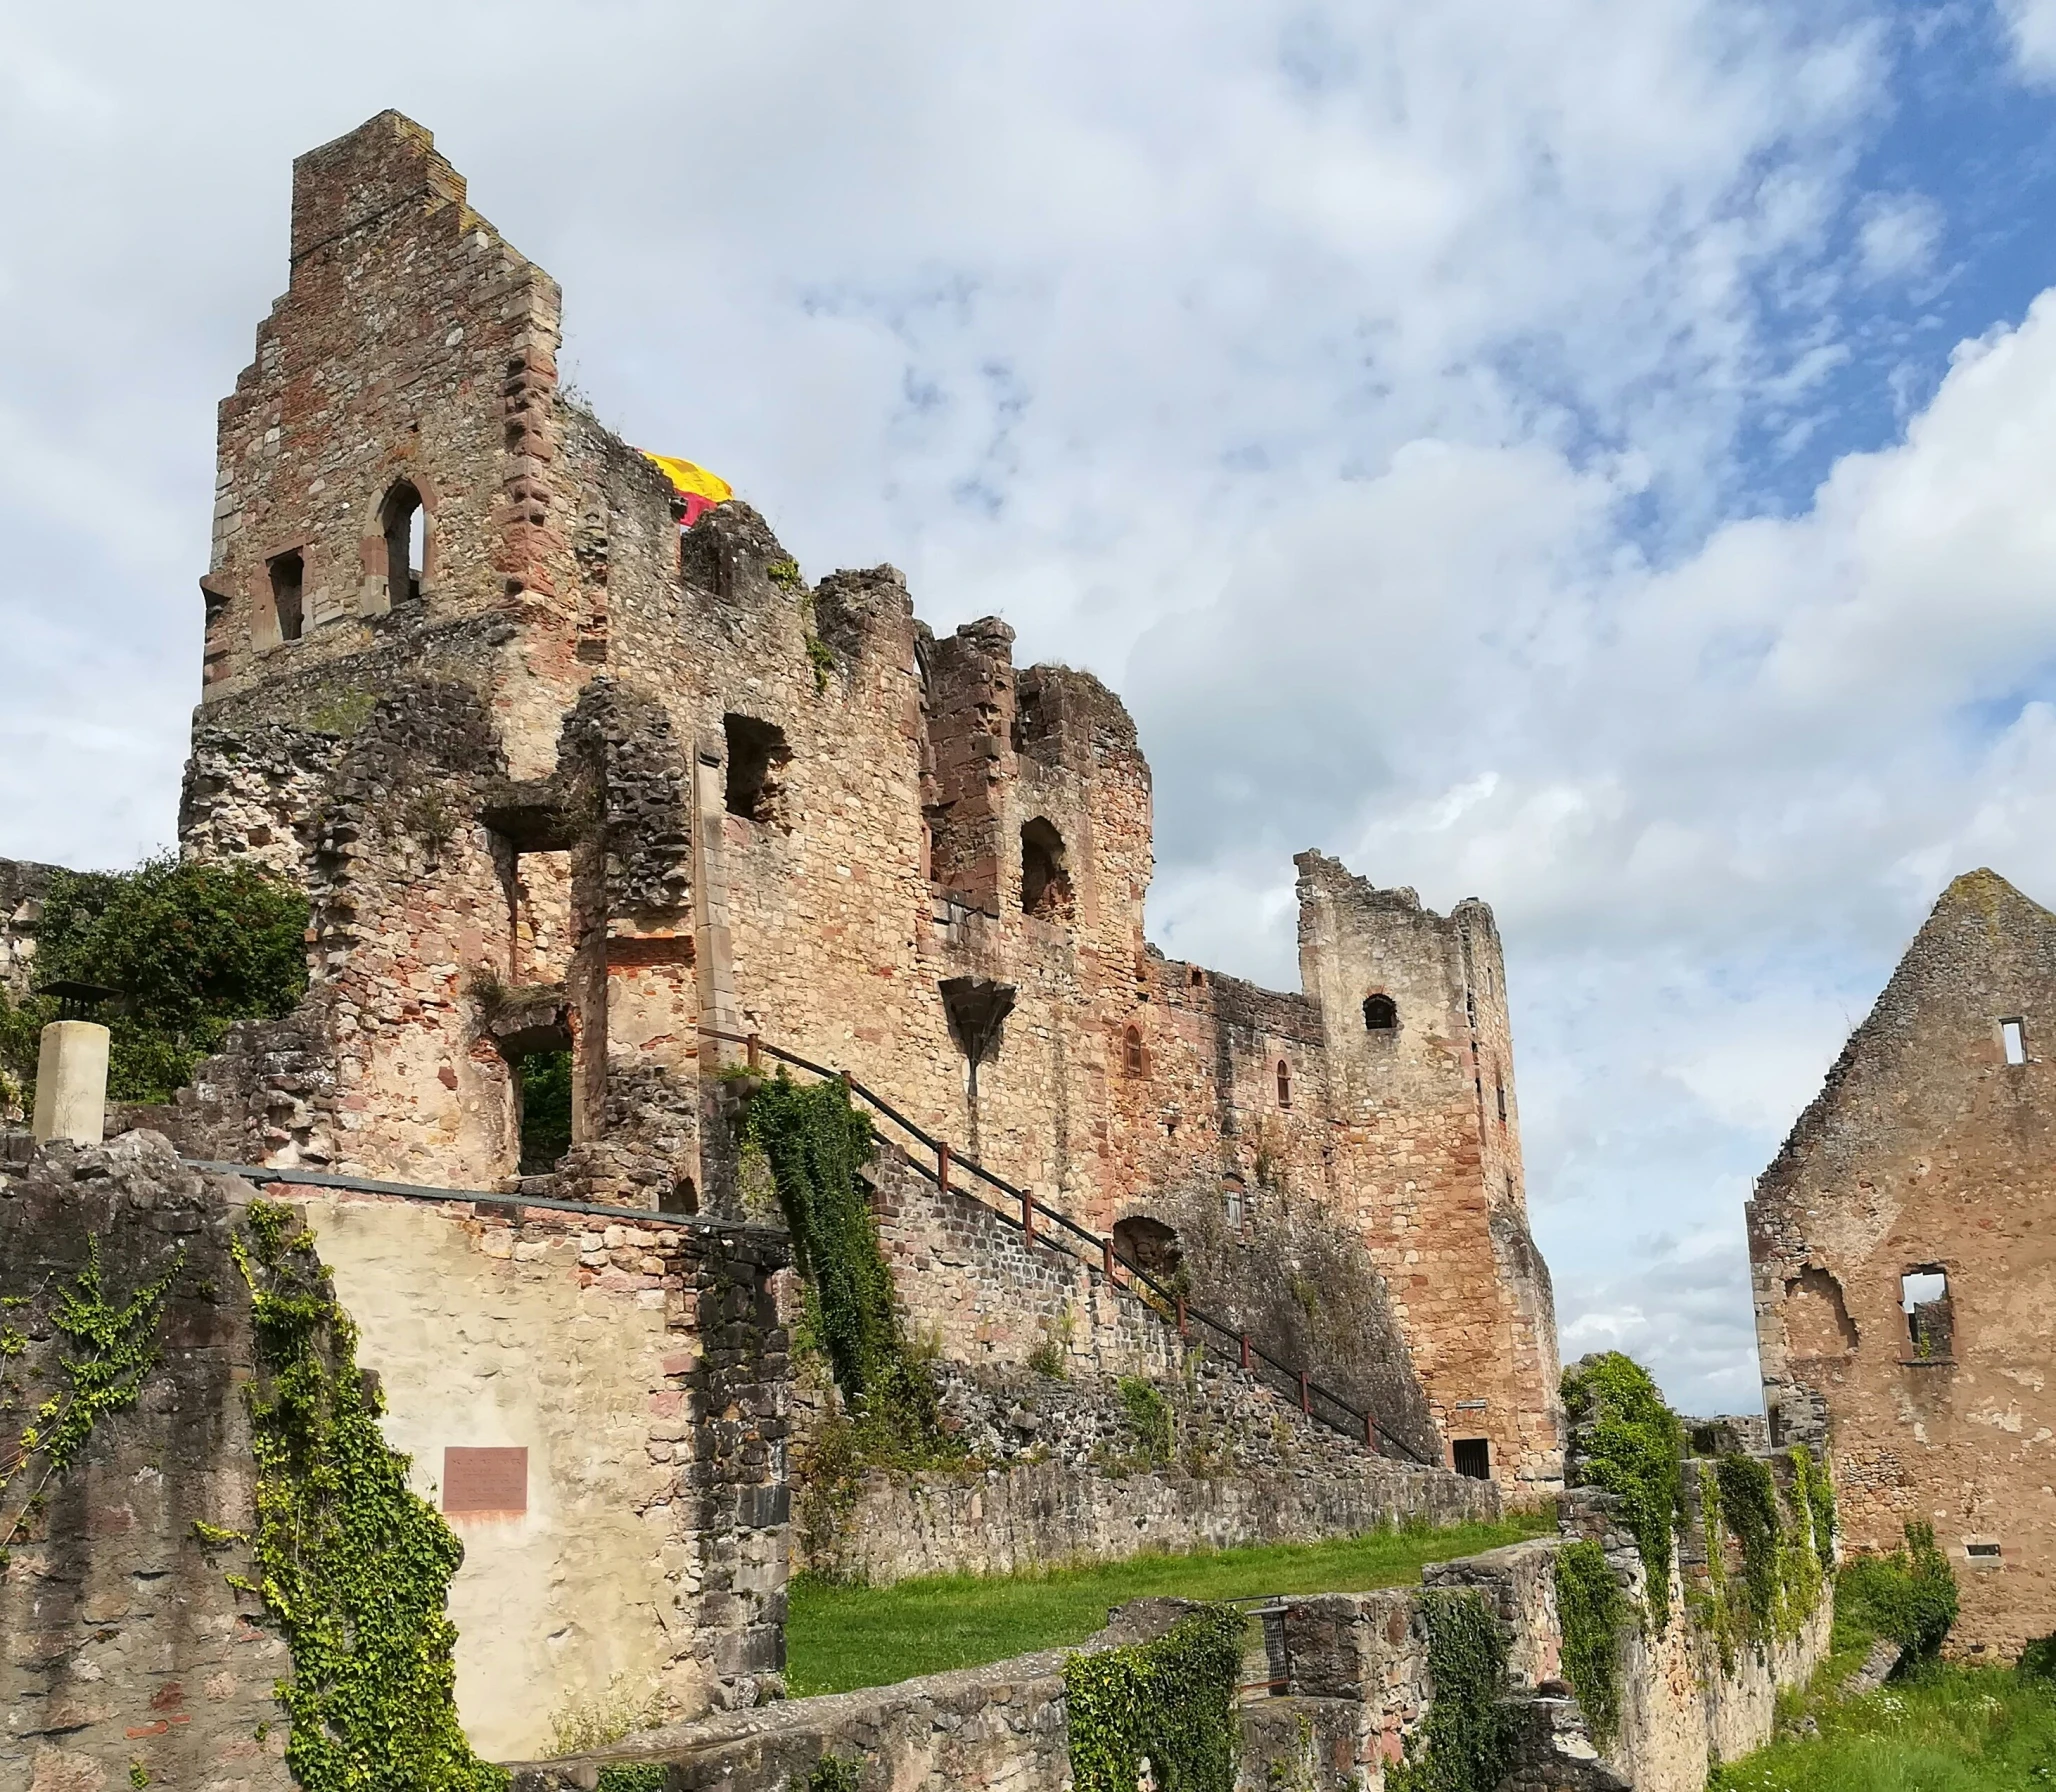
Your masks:
[{"label": "ruined gable wall with small square windows at the right edge", "polygon": [[[2005,1062],[2007,1017],[2025,1065]],[[1968,1652],[2056,1630],[2052,1032],[2056,917],[1990,871],[1957,878],[1750,1202],[1778,1432],[1832,1439],[1852,1547],[1933,1521]],[[1922,1356],[1902,1307],[1922,1264],[1949,1278],[1947,1354]]]}]

